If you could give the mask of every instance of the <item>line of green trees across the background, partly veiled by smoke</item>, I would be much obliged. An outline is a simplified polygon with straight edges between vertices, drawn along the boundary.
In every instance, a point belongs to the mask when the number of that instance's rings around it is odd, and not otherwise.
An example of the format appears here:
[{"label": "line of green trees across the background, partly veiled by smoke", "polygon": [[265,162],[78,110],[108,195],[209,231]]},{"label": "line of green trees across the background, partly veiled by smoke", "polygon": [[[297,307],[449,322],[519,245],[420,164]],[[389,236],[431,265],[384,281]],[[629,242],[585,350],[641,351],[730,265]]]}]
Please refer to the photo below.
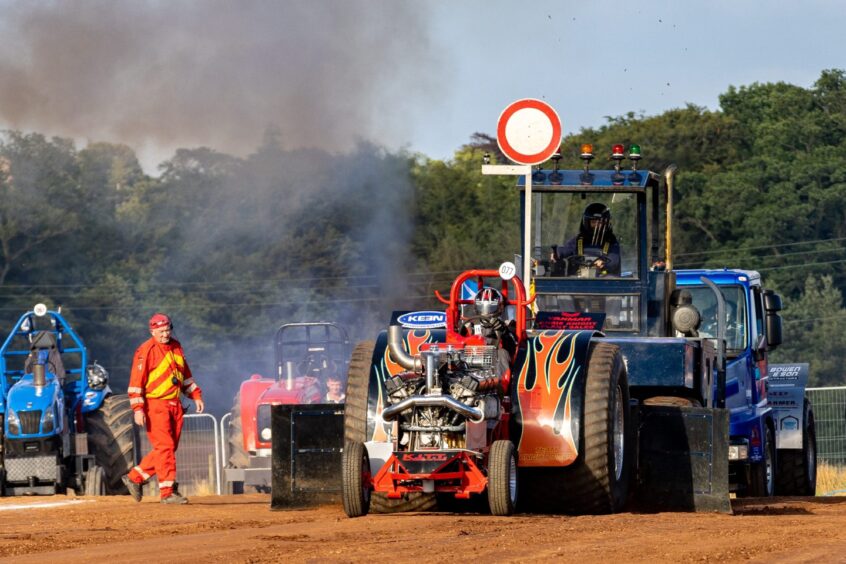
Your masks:
[{"label": "line of green trees across the background, partly veiled by smoke", "polygon": [[[561,166],[580,167],[586,142],[598,157],[638,143],[641,168],[677,164],[676,266],[760,271],[785,297],[775,360],[843,384],[846,74],[719,102],[609,117],[563,140]],[[122,392],[147,318],[166,311],[222,410],[250,373],[271,373],[282,323],[372,338],[392,310],[434,307],[457,272],[519,252],[514,180],[480,173],[484,153],[501,159],[489,135],[443,161],[364,142],[289,151],[282,135],[246,157],[180,149],[150,175],[125,145],[5,132],[0,328],[37,302],[61,307]]]}]

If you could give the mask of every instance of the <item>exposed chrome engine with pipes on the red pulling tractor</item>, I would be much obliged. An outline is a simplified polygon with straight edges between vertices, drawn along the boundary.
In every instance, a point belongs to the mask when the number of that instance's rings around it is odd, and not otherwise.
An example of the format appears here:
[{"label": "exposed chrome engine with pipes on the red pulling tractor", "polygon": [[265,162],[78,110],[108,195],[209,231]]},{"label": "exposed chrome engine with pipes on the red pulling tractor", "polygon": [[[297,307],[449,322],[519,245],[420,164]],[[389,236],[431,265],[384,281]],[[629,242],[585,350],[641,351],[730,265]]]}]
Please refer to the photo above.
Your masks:
[{"label": "exposed chrome engine with pipes on the red pulling tractor", "polygon": [[474,449],[502,414],[499,349],[493,345],[432,344],[418,356],[401,345],[401,329],[389,329],[392,357],[408,369],[385,382],[382,419],[396,422],[403,450]]}]

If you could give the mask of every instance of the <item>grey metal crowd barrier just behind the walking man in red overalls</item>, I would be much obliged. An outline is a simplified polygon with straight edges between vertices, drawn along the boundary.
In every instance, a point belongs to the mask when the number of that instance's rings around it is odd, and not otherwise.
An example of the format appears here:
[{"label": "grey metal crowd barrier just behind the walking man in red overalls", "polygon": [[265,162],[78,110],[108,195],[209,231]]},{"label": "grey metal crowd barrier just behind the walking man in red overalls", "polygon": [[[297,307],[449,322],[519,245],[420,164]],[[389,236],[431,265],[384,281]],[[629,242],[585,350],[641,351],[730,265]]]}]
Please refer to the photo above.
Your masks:
[{"label": "grey metal crowd barrier just behind the walking man in red overalls", "polygon": [[[182,436],[176,451],[176,481],[185,495],[220,495],[222,458],[218,424],[214,415],[192,413],[186,415]],[[152,449],[147,434],[141,434],[141,456]],[[158,495],[155,480],[144,487],[145,495]]]}]

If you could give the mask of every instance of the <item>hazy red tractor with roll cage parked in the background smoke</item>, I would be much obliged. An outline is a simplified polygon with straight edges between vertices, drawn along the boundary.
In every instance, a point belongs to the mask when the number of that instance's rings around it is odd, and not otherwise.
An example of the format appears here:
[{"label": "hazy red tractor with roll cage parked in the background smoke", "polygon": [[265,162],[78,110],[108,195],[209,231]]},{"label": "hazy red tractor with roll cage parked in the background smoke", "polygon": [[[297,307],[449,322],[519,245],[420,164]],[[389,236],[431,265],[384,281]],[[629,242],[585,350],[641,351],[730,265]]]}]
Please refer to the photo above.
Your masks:
[{"label": "hazy red tractor with roll cage parked in the background smoke", "polygon": [[287,323],[276,331],[276,377],[241,383],[229,422],[224,477],[233,493],[271,490],[271,406],[343,404],[350,342],[334,323]]}]

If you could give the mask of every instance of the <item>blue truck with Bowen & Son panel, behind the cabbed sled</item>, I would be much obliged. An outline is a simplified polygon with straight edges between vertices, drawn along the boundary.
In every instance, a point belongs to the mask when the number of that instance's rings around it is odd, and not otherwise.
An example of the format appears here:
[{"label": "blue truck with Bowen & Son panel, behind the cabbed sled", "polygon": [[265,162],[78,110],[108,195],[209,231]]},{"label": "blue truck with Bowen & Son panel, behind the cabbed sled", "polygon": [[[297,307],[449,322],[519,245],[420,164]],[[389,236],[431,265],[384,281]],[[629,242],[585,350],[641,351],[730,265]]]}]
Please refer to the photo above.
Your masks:
[{"label": "blue truck with Bowen & Son panel, behind the cabbed sled", "polygon": [[781,299],[749,270],[678,270],[676,286],[702,312],[701,338],[717,338],[714,282],[725,300],[725,403],[731,413],[729,477],[739,496],[814,495],[816,429],[805,398],[807,365],[773,365],[782,342]]}]

